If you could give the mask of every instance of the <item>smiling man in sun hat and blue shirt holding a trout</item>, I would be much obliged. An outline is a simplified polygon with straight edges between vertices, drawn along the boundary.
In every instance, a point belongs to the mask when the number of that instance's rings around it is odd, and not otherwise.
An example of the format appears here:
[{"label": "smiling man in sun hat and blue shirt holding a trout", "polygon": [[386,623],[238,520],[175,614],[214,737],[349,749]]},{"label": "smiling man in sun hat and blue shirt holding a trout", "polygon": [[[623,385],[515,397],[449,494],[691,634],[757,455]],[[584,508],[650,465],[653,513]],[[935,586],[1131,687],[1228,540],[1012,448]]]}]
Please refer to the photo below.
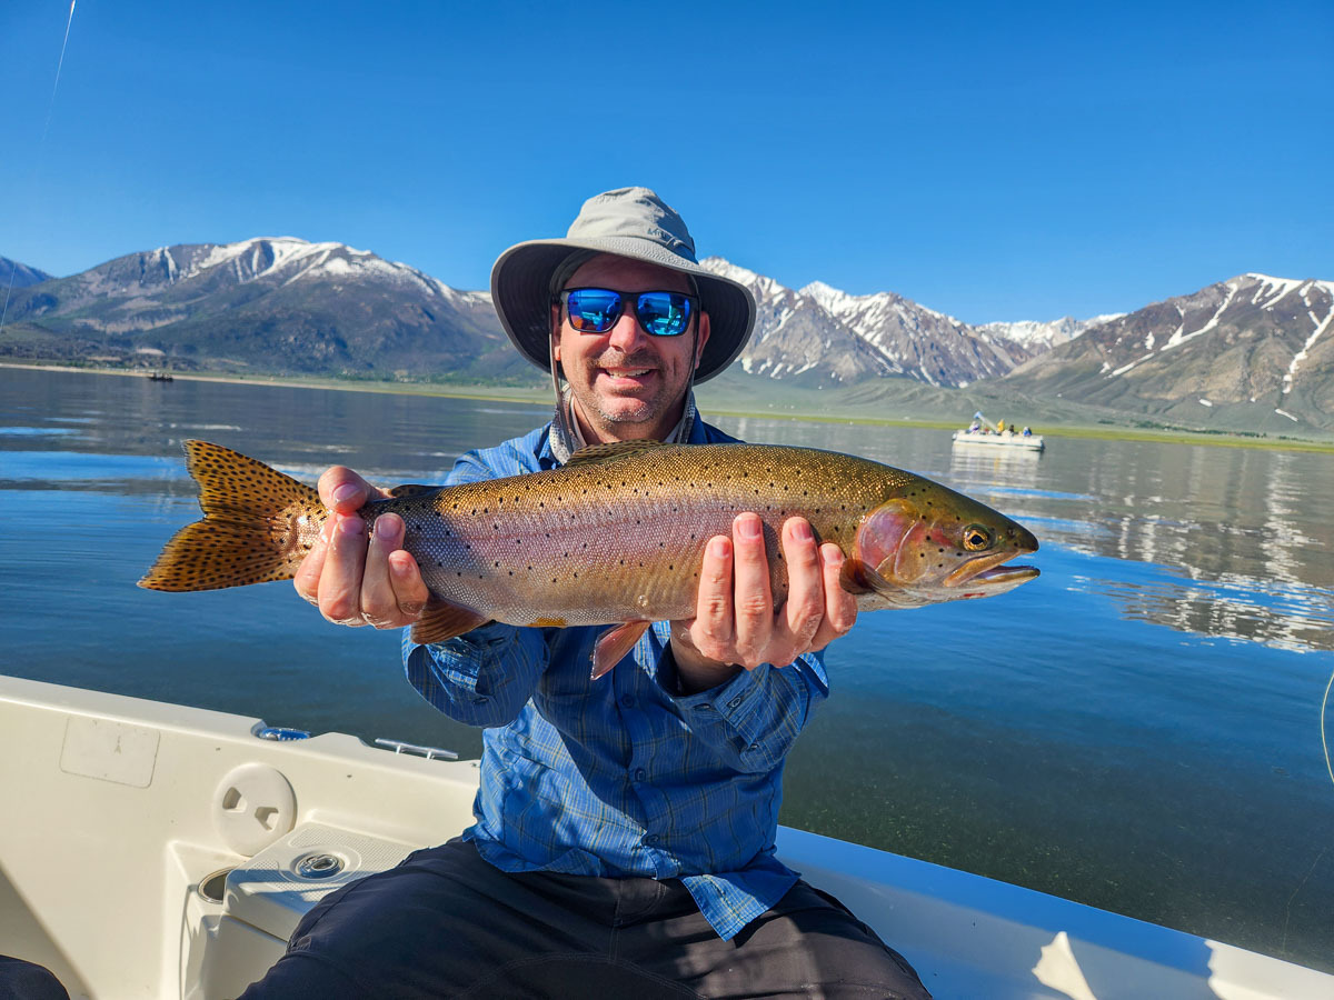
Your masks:
[{"label": "smiling man in sun hat and blue shirt holding a trout", "polygon": [[[699,420],[691,385],[742,352],[755,304],[699,267],[654,192],[590,199],[566,239],[502,255],[491,288],[515,347],[552,372],[556,412],[460,457],[451,483],[555,468],[586,444],[732,440]],[[372,492],[324,473],[336,515],[296,589],[331,621],[403,627],[428,592],[399,519],[366,537],[355,511]],[[762,523],[742,513],[706,549],[696,616],[656,623],[596,681],[598,628],[406,639],[422,695],[488,727],[476,823],[332,893],[244,996],[928,996],[774,856],[783,760],[827,695],[818,651],[856,617],[836,545],[798,517],[779,543],[780,607]]]}]

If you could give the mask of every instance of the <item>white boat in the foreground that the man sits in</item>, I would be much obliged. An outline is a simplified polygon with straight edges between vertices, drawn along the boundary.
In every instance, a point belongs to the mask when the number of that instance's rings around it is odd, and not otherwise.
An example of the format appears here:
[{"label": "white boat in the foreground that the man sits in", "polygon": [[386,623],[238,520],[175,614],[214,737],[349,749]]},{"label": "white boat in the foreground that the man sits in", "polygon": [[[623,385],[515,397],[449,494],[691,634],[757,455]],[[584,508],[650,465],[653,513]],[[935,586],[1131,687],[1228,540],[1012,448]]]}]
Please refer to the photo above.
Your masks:
[{"label": "white boat in the foreground that the man sits in", "polygon": [[[215,1000],[335,887],[472,820],[478,761],[0,676],[0,953],[72,997]],[[939,999],[1334,997],[1334,976],[780,827]]]}]

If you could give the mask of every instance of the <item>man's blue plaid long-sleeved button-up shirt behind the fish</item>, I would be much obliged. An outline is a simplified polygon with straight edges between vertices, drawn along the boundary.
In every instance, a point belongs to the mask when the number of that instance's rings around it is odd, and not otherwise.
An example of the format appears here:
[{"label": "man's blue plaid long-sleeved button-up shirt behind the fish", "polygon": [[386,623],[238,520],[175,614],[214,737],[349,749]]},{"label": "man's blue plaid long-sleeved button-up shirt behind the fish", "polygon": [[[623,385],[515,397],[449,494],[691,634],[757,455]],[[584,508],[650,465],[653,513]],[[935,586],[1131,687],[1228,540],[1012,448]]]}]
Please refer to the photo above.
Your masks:
[{"label": "man's blue plaid long-sleeved button-up shirt behind the fish", "polygon": [[[550,428],[463,455],[448,481],[556,468]],[[691,444],[734,440],[692,423]],[[668,623],[594,681],[602,631],[491,623],[431,645],[404,636],[422,696],[487,727],[476,823],[463,836],[507,872],[680,879],[730,939],[796,881],[774,835],[783,760],[828,695],[823,661],[763,664],[679,696]]]}]

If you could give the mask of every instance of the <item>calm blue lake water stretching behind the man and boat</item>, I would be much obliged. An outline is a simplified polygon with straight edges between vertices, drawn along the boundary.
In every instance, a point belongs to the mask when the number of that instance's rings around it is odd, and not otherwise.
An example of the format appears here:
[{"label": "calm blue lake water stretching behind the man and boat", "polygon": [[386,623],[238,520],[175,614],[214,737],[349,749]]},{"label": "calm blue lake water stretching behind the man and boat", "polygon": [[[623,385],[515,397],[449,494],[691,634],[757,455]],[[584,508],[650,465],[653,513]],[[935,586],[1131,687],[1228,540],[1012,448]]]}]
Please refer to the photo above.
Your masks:
[{"label": "calm blue lake water stretching behind the man and boat", "polygon": [[[327,625],[285,584],[135,581],[197,515],[187,437],[309,480],[342,461],[430,483],[544,419],[0,369],[0,671],[476,755],[403,680],[396,635]],[[1038,581],[867,615],[831,647],[784,823],[1334,971],[1334,456],[1059,437],[994,456],[942,431],[719,423],[924,473],[1042,540]]]}]

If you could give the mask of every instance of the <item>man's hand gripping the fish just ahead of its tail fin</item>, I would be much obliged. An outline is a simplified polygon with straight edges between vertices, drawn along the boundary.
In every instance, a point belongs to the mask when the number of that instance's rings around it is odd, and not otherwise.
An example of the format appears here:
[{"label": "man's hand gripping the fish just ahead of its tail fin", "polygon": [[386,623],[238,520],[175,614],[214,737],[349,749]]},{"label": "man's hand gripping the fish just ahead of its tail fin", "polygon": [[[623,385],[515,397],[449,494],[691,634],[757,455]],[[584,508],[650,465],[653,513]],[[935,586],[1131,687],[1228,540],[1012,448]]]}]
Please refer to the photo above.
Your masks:
[{"label": "man's hand gripping the fish just ahead of its tail fin", "polygon": [[416,560],[402,548],[403,519],[378,517],[367,541],[366,521],[356,516],[372,496],[388,495],[342,465],[327,469],[319,487],[331,513],[296,571],[296,592],[339,625],[411,625],[430,595]]}]

